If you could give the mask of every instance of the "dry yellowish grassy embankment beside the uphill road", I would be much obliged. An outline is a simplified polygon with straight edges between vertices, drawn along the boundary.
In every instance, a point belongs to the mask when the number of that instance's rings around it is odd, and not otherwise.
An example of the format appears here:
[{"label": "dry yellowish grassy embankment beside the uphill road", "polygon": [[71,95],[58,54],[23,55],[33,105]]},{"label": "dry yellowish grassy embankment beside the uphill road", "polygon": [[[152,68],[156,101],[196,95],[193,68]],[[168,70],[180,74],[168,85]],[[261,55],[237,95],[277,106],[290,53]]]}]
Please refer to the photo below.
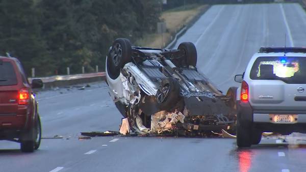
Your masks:
[{"label": "dry yellowish grassy embankment beside the uphill road", "polygon": [[[164,11],[160,17],[166,23],[167,31],[163,34],[147,34],[137,40],[135,45],[147,47],[165,47],[172,40],[176,32],[179,32],[194,17],[207,8],[207,5],[188,5]],[[162,41],[163,40],[163,41]]]}]

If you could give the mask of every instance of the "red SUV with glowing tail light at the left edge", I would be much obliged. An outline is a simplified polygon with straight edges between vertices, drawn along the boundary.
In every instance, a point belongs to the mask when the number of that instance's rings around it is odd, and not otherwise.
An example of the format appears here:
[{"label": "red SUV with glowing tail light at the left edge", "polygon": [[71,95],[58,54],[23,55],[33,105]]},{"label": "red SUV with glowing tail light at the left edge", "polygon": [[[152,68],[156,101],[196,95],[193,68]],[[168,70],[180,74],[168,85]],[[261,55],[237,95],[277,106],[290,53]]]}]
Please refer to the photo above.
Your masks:
[{"label": "red SUV with glowing tail light at the left edge", "polygon": [[29,83],[16,58],[0,56],[0,140],[20,142],[22,152],[33,152],[40,145],[41,124],[32,89],[42,86],[40,79]]}]

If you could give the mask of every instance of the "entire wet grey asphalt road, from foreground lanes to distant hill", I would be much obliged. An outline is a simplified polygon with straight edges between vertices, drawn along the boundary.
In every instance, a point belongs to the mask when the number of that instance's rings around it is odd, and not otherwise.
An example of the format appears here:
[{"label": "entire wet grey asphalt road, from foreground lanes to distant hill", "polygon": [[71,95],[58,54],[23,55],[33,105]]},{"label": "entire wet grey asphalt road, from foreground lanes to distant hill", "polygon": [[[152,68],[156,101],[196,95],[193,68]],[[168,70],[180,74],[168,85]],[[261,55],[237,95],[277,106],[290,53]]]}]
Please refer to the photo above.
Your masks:
[{"label": "entire wet grey asphalt road, from foreground lanes to distant hill", "polygon": [[[198,50],[198,68],[220,90],[237,85],[260,46],[302,46],[306,13],[297,4],[218,5],[210,8],[178,42]],[[0,171],[305,171],[305,137],[265,137],[238,149],[229,138],[94,137],[83,131],[118,130],[121,116],[105,83],[85,90],[61,88],[37,94],[43,137],[34,153],[0,141]]]}]

